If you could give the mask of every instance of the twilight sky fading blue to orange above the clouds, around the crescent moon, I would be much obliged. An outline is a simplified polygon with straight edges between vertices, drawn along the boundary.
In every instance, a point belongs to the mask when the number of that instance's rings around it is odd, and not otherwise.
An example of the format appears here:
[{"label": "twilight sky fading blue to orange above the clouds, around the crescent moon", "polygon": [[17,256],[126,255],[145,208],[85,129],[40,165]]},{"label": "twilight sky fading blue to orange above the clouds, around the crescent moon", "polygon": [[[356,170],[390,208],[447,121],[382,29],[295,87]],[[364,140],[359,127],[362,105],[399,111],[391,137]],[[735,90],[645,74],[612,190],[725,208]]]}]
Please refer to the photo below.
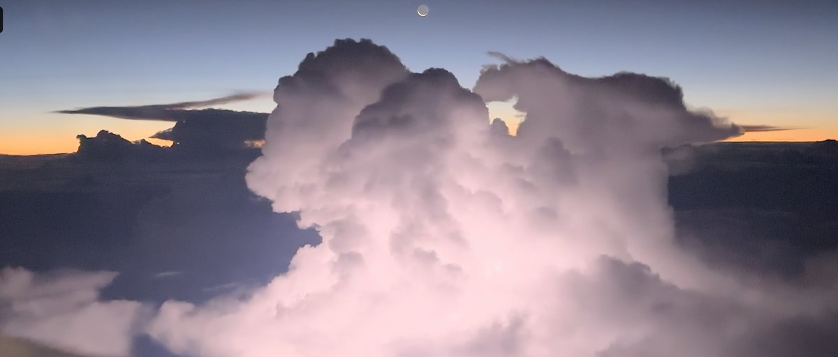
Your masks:
[{"label": "twilight sky fading blue to orange above the clouds, around the crescent moon", "polygon": [[172,123],[56,110],[154,105],[242,91],[222,108],[268,112],[299,54],[371,38],[412,71],[441,67],[470,88],[487,55],[544,56],[570,73],[665,76],[685,102],[740,125],[793,130],[735,140],[838,137],[838,4],[572,0],[0,0],[0,153],[72,152],[75,135],[139,140]]}]

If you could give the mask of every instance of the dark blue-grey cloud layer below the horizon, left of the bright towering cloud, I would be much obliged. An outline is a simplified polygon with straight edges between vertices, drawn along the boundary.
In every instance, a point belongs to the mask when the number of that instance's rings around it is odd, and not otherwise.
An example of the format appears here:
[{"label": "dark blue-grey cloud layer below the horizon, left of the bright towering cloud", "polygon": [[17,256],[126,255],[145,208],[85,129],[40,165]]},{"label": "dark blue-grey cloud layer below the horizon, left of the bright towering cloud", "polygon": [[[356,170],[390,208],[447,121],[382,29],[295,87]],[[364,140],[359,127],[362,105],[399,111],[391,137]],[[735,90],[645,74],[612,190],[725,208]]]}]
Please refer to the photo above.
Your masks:
[{"label": "dark blue-grey cloud layer below the horizon, left of the bright towering cloud", "polygon": [[[195,156],[107,132],[81,142],[72,155],[0,156],[0,267],[118,271],[102,299],[199,302],[263,283],[318,241],[247,189],[256,149]],[[172,355],[147,338],[132,349]]]}]

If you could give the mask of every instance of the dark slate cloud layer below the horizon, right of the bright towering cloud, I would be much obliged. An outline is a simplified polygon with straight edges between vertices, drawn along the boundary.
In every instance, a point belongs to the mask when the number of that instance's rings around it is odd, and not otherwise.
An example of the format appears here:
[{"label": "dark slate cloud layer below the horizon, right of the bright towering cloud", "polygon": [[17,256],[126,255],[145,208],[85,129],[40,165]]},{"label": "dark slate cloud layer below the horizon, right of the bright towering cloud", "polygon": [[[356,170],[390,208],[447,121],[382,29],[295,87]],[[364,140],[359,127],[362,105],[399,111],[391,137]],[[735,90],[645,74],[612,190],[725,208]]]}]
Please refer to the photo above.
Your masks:
[{"label": "dark slate cloud layer below the horizon, right of the bright towering cloud", "polygon": [[679,237],[714,264],[799,278],[838,248],[838,144],[719,143],[691,148],[669,181]]}]

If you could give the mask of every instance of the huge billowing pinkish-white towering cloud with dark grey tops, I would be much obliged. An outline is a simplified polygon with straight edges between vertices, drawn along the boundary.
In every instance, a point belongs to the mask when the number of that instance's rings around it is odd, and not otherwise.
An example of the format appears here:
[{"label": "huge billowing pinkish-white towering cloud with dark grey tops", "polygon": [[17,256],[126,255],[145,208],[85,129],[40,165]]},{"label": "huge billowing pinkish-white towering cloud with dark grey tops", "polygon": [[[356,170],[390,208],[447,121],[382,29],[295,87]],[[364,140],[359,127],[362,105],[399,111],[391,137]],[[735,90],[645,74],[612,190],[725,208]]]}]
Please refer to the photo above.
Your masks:
[{"label": "huge billowing pinkish-white towering cloud with dark grey tops", "polygon": [[[484,105],[512,96],[515,137]],[[740,129],[665,79],[539,59],[486,69],[472,92],[345,40],[274,99],[248,184],[323,242],[246,298],[164,303],[148,331],[176,353],[769,355],[753,328],[807,314],[675,245],[660,149]]]}]

